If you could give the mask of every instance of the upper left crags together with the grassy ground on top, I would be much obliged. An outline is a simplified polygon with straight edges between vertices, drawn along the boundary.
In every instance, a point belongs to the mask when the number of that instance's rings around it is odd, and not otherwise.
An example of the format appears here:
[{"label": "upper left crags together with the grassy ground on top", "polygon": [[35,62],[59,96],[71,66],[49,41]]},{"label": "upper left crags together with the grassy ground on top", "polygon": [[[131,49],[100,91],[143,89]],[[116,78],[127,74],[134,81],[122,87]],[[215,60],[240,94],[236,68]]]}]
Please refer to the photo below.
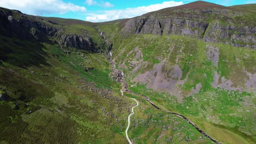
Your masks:
[{"label": "upper left crags together with the grassy ground on top", "polygon": [[61,46],[91,52],[104,51],[107,47],[90,22],[30,16],[4,8],[1,8],[0,17],[1,33],[8,37],[37,41],[49,41],[50,38]]}]

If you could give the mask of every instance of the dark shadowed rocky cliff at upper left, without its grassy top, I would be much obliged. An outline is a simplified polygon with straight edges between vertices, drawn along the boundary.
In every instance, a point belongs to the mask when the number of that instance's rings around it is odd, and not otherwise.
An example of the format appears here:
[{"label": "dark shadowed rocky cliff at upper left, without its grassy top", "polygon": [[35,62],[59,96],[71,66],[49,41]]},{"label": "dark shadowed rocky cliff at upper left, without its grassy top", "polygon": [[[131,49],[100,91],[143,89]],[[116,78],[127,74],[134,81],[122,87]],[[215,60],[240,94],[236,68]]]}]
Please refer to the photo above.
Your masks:
[{"label": "dark shadowed rocky cliff at upper left, without its grassy top", "polygon": [[103,47],[97,46],[85,31],[82,34],[66,32],[56,22],[22,14],[20,11],[0,9],[0,21],[0,31],[3,35],[37,41],[49,41],[50,38],[63,47],[75,47],[91,52],[98,52]]}]

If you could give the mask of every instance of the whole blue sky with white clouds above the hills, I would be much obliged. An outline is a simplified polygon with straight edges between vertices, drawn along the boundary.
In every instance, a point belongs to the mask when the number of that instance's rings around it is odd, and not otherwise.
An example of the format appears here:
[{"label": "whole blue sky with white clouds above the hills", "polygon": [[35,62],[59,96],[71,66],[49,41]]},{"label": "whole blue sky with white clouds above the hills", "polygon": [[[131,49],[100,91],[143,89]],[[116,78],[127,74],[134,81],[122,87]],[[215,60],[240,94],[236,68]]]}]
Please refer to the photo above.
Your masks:
[{"label": "whole blue sky with white clouds above the hills", "polygon": [[[256,3],[256,0],[206,0],[224,6]],[[1,0],[0,7],[38,16],[91,22],[131,18],[150,11],[187,4],[190,0]]]}]

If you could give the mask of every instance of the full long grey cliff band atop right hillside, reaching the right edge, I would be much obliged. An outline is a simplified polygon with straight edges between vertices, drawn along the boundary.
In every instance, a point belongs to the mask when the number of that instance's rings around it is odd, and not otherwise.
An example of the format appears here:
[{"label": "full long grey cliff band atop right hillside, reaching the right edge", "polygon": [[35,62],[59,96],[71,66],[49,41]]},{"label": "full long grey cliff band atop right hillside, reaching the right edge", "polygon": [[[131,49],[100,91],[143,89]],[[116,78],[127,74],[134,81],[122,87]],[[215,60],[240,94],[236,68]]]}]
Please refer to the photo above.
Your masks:
[{"label": "full long grey cliff band atop right hillside, reaching the right edge", "polygon": [[228,9],[165,9],[130,19],[122,32],[124,35],[185,35],[211,43],[256,49],[255,22],[236,21],[236,16],[246,14]]}]

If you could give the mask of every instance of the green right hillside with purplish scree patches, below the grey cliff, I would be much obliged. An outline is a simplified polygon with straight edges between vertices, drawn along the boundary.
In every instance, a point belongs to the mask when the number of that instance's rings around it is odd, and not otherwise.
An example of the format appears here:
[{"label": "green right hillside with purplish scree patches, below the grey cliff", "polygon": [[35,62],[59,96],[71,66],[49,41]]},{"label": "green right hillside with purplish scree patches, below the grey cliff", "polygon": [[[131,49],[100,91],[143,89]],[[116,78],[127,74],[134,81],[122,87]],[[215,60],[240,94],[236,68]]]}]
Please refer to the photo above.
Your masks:
[{"label": "green right hillside with purplish scree patches, below the grey cliff", "polygon": [[113,60],[132,92],[181,113],[220,142],[255,142],[255,50],[182,35],[124,38],[121,23],[99,28],[112,39]]}]

